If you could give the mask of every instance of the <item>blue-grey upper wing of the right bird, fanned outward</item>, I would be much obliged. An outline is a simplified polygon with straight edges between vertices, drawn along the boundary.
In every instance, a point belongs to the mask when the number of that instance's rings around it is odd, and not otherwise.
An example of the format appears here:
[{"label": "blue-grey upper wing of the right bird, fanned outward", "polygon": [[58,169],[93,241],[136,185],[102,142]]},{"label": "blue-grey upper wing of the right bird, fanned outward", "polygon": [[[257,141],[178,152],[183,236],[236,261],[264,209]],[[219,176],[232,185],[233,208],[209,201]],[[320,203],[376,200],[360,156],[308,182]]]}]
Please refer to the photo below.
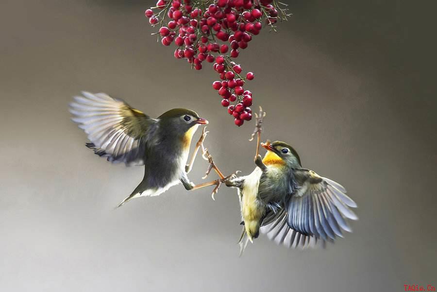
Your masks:
[{"label": "blue-grey upper wing of the right bird, fanned outward", "polygon": [[334,240],[342,231],[352,232],[346,218],[358,220],[349,207],[356,208],[340,184],[310,170],[296,170],[296,190],[288,201],[288,226],[317,239]]}]

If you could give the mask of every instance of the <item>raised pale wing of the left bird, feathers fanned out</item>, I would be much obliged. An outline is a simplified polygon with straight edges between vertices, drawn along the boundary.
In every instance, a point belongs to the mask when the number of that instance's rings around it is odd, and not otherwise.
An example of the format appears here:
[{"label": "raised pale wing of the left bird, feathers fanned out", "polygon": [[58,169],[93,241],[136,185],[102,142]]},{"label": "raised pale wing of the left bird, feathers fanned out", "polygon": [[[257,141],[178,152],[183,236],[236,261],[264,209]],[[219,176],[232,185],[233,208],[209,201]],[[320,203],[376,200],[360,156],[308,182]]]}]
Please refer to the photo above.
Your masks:
[{"label": "raised pale wing of the left bird, feathers fanned out", "polygon": [[88,134],[91,143],[86,146],[110,162],[143,165],[146,142],[157,120],[107,94],[82,94],[74,97],[69,111]]}]

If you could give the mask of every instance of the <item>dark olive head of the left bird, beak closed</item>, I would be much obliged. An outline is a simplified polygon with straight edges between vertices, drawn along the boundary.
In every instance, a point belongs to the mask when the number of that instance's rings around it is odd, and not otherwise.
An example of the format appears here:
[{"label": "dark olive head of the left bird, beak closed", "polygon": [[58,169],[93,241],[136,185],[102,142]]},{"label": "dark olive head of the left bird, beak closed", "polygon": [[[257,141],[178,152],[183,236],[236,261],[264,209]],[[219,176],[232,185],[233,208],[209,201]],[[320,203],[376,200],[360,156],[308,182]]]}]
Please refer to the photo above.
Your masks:
[{"label": "dark olive head of the left bird, beak closed", "polygon": [[199,125],[205,125],[207,120],[190,109],[173,108],[158,117],[159,123],[165,128],[168,134],[174,133],[176,137],[181,137],[186,146],[191,143],[191,138]]}]

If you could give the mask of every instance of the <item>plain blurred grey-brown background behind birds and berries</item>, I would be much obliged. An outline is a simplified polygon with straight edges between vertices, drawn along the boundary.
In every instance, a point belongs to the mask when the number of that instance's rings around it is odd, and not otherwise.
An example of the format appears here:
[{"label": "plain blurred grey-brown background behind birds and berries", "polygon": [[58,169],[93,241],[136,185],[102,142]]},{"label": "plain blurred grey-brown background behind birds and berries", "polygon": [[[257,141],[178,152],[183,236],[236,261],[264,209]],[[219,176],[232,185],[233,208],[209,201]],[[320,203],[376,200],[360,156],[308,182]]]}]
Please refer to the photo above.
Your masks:
[{"label": "plain blurred grey-brown background behind birds and berries", "polygon": [[[210,120],[205,142],[224,172],[252,171],[253,124],[237,128],[216,74],[172,57],[150,35],[151,1],[3,1],[0,17],[1,291],[403,291],[437,286],[436,23],[411,1],[292,1],[279,33],[240,54],[268,112],[265,138],[342,183],[358,222],[326,250],[264,237],[238,258],[235,190],[137,199],[113,210],[142,168],[84,147],[67,103],[104,91],[158,116]],[[433,54],[432,54],[433,53]],[[197,137],[197,136],[196,136]],[[190,177],[201,182],[206,164]]]}]

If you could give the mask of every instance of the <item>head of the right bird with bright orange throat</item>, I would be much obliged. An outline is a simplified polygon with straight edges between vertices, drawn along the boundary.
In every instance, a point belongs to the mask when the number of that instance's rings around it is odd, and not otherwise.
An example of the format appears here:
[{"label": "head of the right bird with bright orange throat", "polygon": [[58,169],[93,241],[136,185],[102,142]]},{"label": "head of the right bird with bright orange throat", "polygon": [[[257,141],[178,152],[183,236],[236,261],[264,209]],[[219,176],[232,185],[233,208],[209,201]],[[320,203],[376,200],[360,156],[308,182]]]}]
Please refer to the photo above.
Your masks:
[{"label": "head of the right bird with bright orange throat", "polygon": [[301,167],[301,158],[293,147],[285,142],[274,141],[270,143],[261,143],[261,146],[267,149],[267,153],[263,158],[265,165],[287,165],[290,167]]}]

